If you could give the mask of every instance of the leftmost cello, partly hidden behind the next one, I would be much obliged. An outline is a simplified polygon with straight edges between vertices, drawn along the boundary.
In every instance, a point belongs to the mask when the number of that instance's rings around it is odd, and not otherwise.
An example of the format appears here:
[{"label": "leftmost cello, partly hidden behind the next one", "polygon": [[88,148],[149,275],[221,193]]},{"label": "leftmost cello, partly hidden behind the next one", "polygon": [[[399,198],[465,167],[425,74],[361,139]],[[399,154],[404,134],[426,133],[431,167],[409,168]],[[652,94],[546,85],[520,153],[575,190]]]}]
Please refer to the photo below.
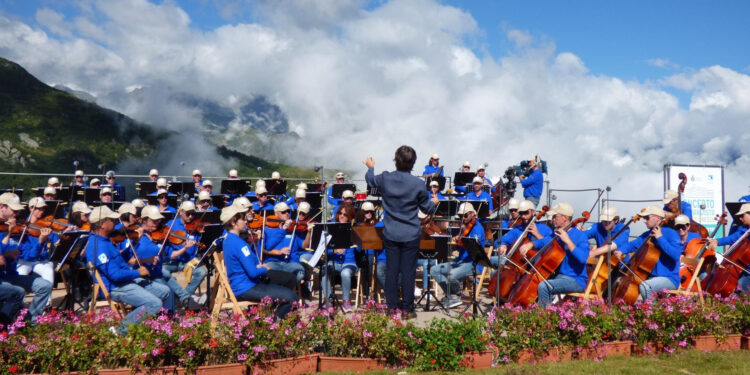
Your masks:
[{"label": "leftmost cello, partly hidden behind the next one", "polygon": [[[510,251],[505,256],[507,258],[507,261],[503,265],[502,269],[498,270],[499,273],[495,272],[495,274],[490,278],[490,283],[487,286],[490,297],[497,297],[503,300],[508,298],[508,293],[510,293],[513,285],[515,285],[515,283],[518,281],[518,279],[521,278],[521,276],[528,273],[528,271],[526,271],[526,262],[528,260],[524,260],[523,258],[533,257],[536,254],[536,251],[529,250],[529,253],[527,253],[528,257],[525,257],[521,255],[520,251],[518,251],[518,247],[531,241],[527,238],[529,229],[531,228],[531,224],[535,223],[537,220],[546,215],[548,210],[548,206],[543,206],[541,211],[539,211],[536,216],[531,218],[521,235],[513,243]],[[521,218],[521,216],[519,216],[518,218]],[[518,218],[516,220],[518,220]],[[513,226],[515,226],[515,223],[513,224]],[[511,225],[508,226],[513,228],[513,226]],[[497,285],[498,280],[500,282],[499,290]]]}]

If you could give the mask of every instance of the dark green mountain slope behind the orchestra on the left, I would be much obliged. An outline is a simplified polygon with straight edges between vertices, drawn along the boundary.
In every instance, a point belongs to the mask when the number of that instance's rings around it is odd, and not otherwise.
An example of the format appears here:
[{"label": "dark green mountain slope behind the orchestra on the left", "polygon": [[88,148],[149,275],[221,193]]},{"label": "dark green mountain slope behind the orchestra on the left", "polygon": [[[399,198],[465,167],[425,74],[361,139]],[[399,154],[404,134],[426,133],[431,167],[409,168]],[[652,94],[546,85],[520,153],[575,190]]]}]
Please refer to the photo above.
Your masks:
[{"label": "dark green mountain slope behind the orchestra on the left", "polygon": [[[160,160],[167,156],[158,151],[169,142],[174,147],[179,134],[80,99],[93,98],[90,94],[66,91],[50,87],[20,65],[0,58],[0,171],[70,173],[76,160],[87,174],[98,173],[100,164],[117,170],[125,162],[129,169],[145,172],[167,163]],[[209,104],[203,103],[213,109],[213,121],[225,123],[230,118],[229,112]],[[257,167],[262,167],[279,170],[284,176],[316,175],[312,170],[271,163],[221,146],[208,145],[217,159],[225,161],[217,170],[238,168],[242,175],[255,175]],[[46,178],[2,176],[0,187],[40,186],[43,181]]]}]

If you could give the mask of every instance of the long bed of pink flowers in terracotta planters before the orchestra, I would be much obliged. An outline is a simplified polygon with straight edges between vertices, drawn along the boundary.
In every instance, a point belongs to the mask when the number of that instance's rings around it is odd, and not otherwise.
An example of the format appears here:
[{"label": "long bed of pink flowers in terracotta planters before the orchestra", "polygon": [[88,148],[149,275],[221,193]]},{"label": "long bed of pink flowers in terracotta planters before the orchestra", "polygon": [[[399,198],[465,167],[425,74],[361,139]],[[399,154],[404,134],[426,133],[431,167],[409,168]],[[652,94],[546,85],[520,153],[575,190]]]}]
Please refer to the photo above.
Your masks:
[{"label": "long bed of pink flowers in terracotta planters before the orchestra", "polygon": [[[629,355],[631,342],[634,353],[646,355],[702,348],[700,343],[712,341],[733,350],[740,335],[750,332],[748,296],[707,296],[703,305],[683,296],[635,306],[601,301],[567,301],[546,309],[505,305],[488,317],[435,319],[425,327],[389,316],[375,304],[345,316],[321,310],[275,320],[268,302],[245,314],[221,315],[216,322],[205,313],[161,314],[131,326],[126,337],[110,333],[117,321],[108,311],[80,316],[53,311],[33,327],[19,317],[0,330],[0,373],[195,373],[199,366],[239,363],[240,371],[291,375],[309,372],[322,357],[453,371],[486,367],[489,358],[503,363]],[[290,370],[282,370],[287,363]]]}]

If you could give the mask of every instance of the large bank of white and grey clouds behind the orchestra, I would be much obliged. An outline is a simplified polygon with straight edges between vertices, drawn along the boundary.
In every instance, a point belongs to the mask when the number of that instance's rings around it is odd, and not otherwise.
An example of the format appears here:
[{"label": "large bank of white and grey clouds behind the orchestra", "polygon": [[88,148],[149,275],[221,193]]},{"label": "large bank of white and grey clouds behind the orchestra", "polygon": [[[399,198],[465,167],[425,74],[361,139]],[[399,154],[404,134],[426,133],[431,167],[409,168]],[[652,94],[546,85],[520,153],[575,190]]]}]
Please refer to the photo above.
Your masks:
[{"label": "large bank of white and grey clouds behind the orchestra", "polygon": [[[609,185],[611,198],[657,199],[664,164],[709,163],[727,167],[727,199],[746,193],[747,74],[712,66],[665,77],[663,85],[691,95],[681,108],[660,86],[593,75],[576,51],[537,45],[524,31],[507,32],[511,54],[478,54],[466,42],[482,33],[471,14],[437,1],[257,7],[257,22],[198,30],[174,2],[94,1],[64,41],[0,18],[0,55],[182,134],[194,134],[197,116],[160,98],[167,88],[230,106],[265,95],[303,135],[275,157],[303,165],[362,171],[373,155],[376,169],[391,169],[393,151],[410,144],[420,164],[440,153],[448,175],[464,160],[500,175],[539,154],[553,188]],[[150,96],[125,95],[126,87]],[[178,161],[222,165],[179,152],[166,162]],[[579,210],[595,198],[556,195]]]}]

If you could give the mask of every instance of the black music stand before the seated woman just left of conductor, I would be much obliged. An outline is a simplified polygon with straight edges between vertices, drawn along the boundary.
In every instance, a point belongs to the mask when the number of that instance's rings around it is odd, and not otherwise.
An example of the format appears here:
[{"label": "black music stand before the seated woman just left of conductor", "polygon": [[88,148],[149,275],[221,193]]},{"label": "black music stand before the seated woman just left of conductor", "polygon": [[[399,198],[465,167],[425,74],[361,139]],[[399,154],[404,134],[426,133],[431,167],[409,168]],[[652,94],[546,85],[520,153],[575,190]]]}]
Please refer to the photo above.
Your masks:
[{"label": "black music stand before the seated woman just left of conductor", "polygon": [[[310,243],[311,244],[319,244],[321,241],[321,238],[323,237],[323,232],[326,232],[331,236],[330,241],[328,242],[325,251],[323,251],[323,254],[321,256],[321,260],[318,261],[318,265],[320,266],[318,272],[320,272],[321,280],[322,275],[324,274],[323,267],[325,267],[325,274],[328,275],[328,282],[331,283],[331,295],[332,295],[332,303],[334,306],[334,309],[338,308],[341,310],[341,312],[344,312],[344,308],[341,305],[341,302],[339,302],[338,298],[336,297],[336,283],[334,282],[334,275],[332,272],[332,267],[329,265],[328,261],[328,250],[331,249],[346,249],[352,246],[352,238],[356,234],[352,230],[352,226],[350,223],[320,223],[315,224],[313,227],[312,235],[310,236]],[[317,246],[316,246],[317,247]],[[326,296],[328,298],[328,296]],[[318,309],[323,308],[323,282],[321,281],[318,283]]]}]

